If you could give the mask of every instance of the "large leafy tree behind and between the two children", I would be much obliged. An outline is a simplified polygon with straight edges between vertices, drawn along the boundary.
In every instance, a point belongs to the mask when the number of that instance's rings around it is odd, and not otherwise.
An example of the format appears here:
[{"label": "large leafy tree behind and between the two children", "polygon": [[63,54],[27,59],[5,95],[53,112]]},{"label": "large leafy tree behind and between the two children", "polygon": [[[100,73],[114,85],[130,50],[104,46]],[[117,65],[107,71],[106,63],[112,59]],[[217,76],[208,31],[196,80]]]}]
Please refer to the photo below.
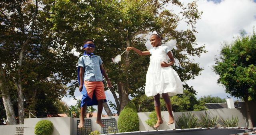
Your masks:
[{"label": "large leafy tree behind and between the two children", "polygon": [[[180,7],[180,14],[165,10],[167,4]],[[123,52],[128,46],[145,50],[145,36],[153,30],[163,35],[163,41],[177,40],[177,49],[173,52],[179,63],[172,67],[185,83],[184,87],[195,93],[186,81],[194,79],[202,68],[190,60],[188,55],[200,56],[205,52],[204,46],[194,46],[194,25],[202,14],[197,10],[196,2],[184,6],[178,0],[56,0],[53,2],[51,13],[49,20],[54,24],[54,36],[65,42],[66,46],[76,47],[76,50],[80,51],[85,38],[95,40],[95,54],[102,57],[113,83],[113,89],[110,91],[114,95],[118,113],[128,103],[129,95],[134,97],[137,94],[144,94],[149,57],[126,52],[120,64],[116,65],[111,62],[111,58]],[[185,21],[191,29],[176,30],[180,21]]]}]

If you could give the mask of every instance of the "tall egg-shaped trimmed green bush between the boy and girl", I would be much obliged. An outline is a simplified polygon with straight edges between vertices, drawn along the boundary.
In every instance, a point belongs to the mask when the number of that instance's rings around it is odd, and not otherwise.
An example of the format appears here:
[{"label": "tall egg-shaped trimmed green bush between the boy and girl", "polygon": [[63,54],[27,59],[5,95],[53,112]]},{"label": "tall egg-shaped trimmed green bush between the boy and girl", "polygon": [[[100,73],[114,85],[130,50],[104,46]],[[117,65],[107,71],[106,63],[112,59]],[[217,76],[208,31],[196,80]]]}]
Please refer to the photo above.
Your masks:
[{"label": "tall egg-shaped trimmed green bush between the boy and girl", "polygon": [[139,117],[135,104],[130,101],[121,111],[117,126],[119,132],[139,131]]}]

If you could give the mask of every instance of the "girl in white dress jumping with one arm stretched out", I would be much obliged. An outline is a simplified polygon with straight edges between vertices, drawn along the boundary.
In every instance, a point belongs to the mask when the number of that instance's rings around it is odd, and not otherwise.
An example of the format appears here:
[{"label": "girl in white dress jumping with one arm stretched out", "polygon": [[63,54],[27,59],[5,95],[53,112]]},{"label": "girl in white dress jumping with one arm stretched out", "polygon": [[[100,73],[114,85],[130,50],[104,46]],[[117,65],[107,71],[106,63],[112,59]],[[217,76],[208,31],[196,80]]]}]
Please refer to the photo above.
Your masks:
[{"label": "girl in white dress jumping with one arm stretched out", "polygon": [[[154,32],[150,36],[151,45],[154,47],[149,51],[140,51],[134,47],[128,47],[126,50],[134,50],[140,56],[150,55],[150,64],[146,74],[145,94],[154,96],[154,105],[156,109],[157,122],[154,127],[159,127],[163,123],[161,117],[160,94],[166,103],[166,108],[169,113],[168,124],[174,123],[172,114],[172,104],[169,96],[183,93],[183,86],[180,77],[171,65],[174,64],[174,58],[170,49],[167,46],[161,46],[162,37]],[[170,62],[166,60],[166,54],[170,58]]]}]

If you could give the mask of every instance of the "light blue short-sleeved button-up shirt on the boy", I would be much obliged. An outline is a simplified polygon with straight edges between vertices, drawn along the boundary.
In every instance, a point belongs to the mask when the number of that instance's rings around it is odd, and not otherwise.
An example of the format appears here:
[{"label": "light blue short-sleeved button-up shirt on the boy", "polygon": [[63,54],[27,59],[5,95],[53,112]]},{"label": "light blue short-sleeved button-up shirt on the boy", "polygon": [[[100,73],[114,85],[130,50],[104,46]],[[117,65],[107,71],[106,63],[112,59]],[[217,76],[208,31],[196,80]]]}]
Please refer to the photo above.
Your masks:
[{"label": "light blue short-sleeved button-up shirt on the boy", "polygon": [[84,55],[78,60],[78,66],[84,67],[84,81],[102,81],[102,73],[100,71],[100,65],[102,64],[100,56]]}]

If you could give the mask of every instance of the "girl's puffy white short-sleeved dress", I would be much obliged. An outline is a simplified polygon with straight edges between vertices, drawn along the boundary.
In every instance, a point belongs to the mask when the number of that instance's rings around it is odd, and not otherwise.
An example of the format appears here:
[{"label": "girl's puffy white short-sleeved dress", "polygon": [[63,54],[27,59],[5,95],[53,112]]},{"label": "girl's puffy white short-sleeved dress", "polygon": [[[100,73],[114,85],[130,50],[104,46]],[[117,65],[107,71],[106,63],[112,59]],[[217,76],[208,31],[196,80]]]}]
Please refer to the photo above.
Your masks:
[{"label": "girl's puffy white short-sleeved dress", "polygon": [[146,96],[168,93],[169,96],[183,94],[182,81],[172,67],[162,67],[161,62],[167,62],[166,54],[170,51],[167,46],[158,46],[149,50],[150,64],[146,75]]}]

